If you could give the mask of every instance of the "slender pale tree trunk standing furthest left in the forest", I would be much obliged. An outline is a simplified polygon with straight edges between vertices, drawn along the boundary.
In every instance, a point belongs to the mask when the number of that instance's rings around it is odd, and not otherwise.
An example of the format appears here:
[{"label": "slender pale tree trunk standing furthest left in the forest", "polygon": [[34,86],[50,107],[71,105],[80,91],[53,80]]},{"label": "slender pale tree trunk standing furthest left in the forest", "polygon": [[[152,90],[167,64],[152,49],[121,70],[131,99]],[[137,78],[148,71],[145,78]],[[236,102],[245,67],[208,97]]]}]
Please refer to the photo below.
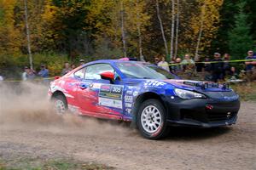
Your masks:
[{"label": "slender pale tree trunk standing furthest left in the forest", "polygon": [[28,16],[27,16],[27,3],[26,3],[26,0],[24,0],[24,8],[25,8],[25,24],[26,24],[27,53],[28,53],[28,56],[29,56],[29,65],[30,65],[30,68],[33,69],[33,59],[32,59],[31,46],[30,46],[30,32],[29,32],[29,26],[28,26]]}]

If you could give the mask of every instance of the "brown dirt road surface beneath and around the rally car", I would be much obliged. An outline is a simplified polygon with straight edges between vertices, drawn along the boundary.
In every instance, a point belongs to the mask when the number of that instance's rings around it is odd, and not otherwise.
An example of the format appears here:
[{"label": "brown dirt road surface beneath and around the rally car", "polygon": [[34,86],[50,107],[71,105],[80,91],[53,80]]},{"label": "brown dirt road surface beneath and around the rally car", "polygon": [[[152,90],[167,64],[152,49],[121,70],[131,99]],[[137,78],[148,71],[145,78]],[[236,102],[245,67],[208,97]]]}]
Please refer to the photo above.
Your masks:
[{"label": "brown dirt road surface beneath and around the rally car", "polygon": [[[42,98],[1,88],[0,158],[70,157],[117,169],[256,169],[256,103],[241,103],[236,125],[172,127],[168,138],[143,139],[126,124],[56,116]],[[33,89],[33,90],[31,90]],[[45,97],[46,98],[46,97]]]}]

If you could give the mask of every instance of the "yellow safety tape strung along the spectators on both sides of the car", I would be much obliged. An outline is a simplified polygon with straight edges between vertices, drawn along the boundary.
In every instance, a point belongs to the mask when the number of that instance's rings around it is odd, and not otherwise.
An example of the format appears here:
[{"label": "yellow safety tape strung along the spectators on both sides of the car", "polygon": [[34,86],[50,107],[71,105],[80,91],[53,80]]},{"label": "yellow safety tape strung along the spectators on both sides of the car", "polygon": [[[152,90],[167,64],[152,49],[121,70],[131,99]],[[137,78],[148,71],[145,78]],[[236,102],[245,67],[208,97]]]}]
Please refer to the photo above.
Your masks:
[{"label": "yellow safety tape strung along the spectators on both sides of the car", "polygon": [[[202,62],[195,62],[195,64],[203,63],[203,64],[211,64],[211,63],[236,63],[236,62],[246,62],[246,61],[256,61],[256,59],[236,59],[236,60],[228,60],[228,61],[202,61]],[[182,63],[176,63],[176,64],[168,64],[168,65],[189,65],[188,63],[182,64]],[[160,65],[160,66],[168,66],[166,64]],[[49,77],[49,78],[35,78],[32,79],[32,81],[44,81],[44,80],[50,80],[55,79],[55,77]],[[3,80],[3,82],[23,82],[23,80]]]}]

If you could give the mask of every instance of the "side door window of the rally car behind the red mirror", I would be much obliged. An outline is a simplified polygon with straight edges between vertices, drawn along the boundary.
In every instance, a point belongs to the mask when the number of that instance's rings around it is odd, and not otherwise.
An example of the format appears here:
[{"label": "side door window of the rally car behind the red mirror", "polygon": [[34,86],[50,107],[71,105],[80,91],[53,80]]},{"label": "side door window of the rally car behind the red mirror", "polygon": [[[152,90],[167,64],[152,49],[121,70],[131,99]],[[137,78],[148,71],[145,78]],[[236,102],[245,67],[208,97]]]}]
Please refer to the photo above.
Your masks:
[{"label": "side door window of the rally car behind the red mirror", "polygon": [[100,80],[102,79],[100,74],[104,71],[111,71],[113,72],[113,67],[108,64],[95,64],[95,65],[89,65],[86,67],[85,71],[85,79],[94,79],[94,80]]}]

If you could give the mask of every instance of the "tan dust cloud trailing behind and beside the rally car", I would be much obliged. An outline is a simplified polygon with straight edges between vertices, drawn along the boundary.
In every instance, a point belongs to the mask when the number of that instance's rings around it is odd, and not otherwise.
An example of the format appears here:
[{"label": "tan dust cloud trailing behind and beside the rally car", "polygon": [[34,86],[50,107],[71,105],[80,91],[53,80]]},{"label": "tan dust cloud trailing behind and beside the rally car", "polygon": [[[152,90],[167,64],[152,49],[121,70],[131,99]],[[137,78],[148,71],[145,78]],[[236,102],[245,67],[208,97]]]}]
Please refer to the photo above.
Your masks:
[{"label": "tan dust cloud trailing behind and beside the rally car", "polygon": [[100,121],[71,113],[59,116],[53,110],[47,92],[48,86],[38,83],[1,83],[0,130],[115,136],[135,134],[127,123]]}]

